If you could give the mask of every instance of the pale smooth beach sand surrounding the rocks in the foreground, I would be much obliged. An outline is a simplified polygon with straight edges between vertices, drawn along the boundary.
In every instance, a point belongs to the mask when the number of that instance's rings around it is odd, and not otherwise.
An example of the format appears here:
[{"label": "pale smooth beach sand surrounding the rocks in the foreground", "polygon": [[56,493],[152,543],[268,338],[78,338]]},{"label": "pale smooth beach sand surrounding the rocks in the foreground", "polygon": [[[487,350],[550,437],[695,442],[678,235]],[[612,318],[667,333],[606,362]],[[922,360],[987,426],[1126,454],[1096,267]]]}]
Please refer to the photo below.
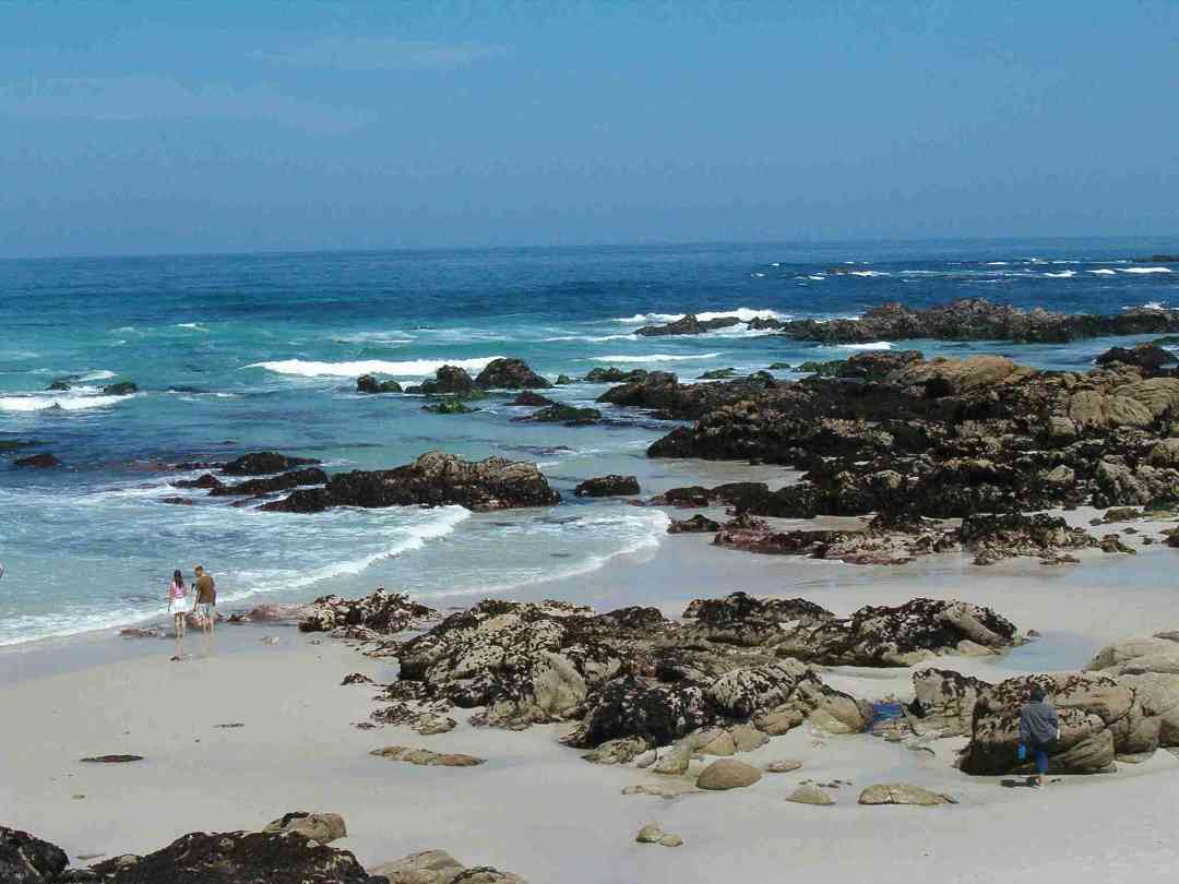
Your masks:
[{"label": "pale smooth beach sand surrounding the rocks in the foreground", "polygon": [[[1045,638],[995,660],[946,659],[995,679],[1076,668],[1111,639],[1179,622],[1167,579],[1174,550],[1134,559],[1087,556],[1082,567],[1016,563],[973,568],[940,556],[903,568],[852,568],[712,549],[699,537],[612,561],[516,595],[569,598],[602,609],[679,602],[743,588],[804,595],[838,613],[915,595],[990,605]],[[259,642],[276,635],[277,646]],[[72,648],[72,651],[70,649]],[[199,649],[190,635],[189,651]],[[349,672],[389,680],[387,664],[289,627],[223,627],[209,659],[167,661],[170,641],[93,636],[68,647],[0,655],[0,820],[60,844],[71,856],[147,852],[195,830],[255,829],[291,810],[342,813],[337,846],[365,865],[440,847],[531,882],[1171,880],[1179,870],[1174,797],[1179,761],[1160,752],[1117,774],[1063,778],[1043,792],[1005,789],[937,756],[868,735],[798,728],[746,756],[798,758],[804,767],[756,786],[676,800],[623,796],[656,779],[587,764],[560,746],[558,727],[525,733],[460,727],[437,737],[361,731],[375,688],[342,687]],[[104,659],[103,662],[95,660]],[[864,697],[903,693],[908,671],[824,673]],[[218,728],[241,723],[244,727]],[[468,752],[476,768],[428,768],[373,758],[373,748],[421,745]],[[133,753],[130,765],[84,756]],[[850,780],[834,807],[795,805],[804,779]],[[908,781],[953,794],[935,809],[861,807],[871,783]],[[83,797],[78,797],[83,796]],[[656,822],[684,838],[666,849],[633,843]]]}]

